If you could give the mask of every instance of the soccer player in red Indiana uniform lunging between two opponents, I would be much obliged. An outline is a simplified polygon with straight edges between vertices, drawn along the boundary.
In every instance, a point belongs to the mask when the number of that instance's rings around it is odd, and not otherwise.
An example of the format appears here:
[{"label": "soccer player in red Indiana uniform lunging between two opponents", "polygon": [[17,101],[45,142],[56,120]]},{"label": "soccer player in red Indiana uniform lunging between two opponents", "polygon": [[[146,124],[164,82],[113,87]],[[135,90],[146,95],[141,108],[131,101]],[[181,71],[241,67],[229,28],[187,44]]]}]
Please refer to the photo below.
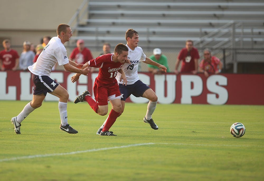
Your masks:
[{"label": "soccer player in red Indiana uniform lunging between two opponents", "polygon": [[[92,99],[91,94],[88,91],[84,91],[82,95],[76,97],[74,103],[87,101],[90,107],[101,116],[106,115],[108,112],[108,101],[110,101],[112,105],[106,124],[100,133],[101,136],[116,136],[112,131],[109,131],[122,108],[121,94],[115,77],[117,73],[120,72],[120,81],[123,80],[123,85],[126,85],[126,75],[121,67],[126,61],[128,61],[127,56],[128,47],[119,43],[116,45],[114,53],[101,55],[88,61],[82,67],[82,69],[86,67],[99,68],[99,73],[93,86],[93,93],[96,101]],[[81,74],[75,74],[72,76],[72,82],[76,82],[80,75]]]}]

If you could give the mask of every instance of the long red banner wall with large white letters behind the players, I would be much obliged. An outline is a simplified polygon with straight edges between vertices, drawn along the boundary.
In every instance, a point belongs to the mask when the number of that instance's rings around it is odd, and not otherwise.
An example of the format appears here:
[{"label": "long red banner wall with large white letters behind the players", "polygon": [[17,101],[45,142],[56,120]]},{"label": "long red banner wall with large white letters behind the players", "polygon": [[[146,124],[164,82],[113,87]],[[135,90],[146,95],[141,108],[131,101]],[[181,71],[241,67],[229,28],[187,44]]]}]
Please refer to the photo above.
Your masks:
[{"label": "long red banner wall with large white letters behind the players", "polygon": [[[92,90],[98,73],[80,76],[77,83],[70,77],[74,73],[54,71],[51,78],[56,80],[69,92],[69,101],[73,101],[84,90]],[[152,75],[139,73],[140,79],[157,94],[160,104],[242,104],[264,105],[263,74],[219,74],[206,78],[203,74],[189,75],[172,73]],[[30,72],[0,72],[0,100],[32,100],[33,82]],[[93,94],[92,94],[93,96]],[[47,94],[45,101],[58,101],[59,98]],[[130,96],[128,102],[147,103],[142,97]]]}]

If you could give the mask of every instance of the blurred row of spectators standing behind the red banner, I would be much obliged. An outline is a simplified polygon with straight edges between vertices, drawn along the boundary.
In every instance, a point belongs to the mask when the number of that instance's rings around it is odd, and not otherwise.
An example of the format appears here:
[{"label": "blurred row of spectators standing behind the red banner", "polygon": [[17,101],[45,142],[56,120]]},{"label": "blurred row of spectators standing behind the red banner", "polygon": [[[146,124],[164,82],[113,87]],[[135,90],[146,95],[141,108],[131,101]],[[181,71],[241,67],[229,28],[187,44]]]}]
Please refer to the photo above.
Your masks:
[{"label": "blurred row of spectators standing behind the red banner", "polygon": [[[2,42],[4,50],[0,52],[0,67],[1,71],[5,70],[22,70],[28,71],[27,67],[37,61],[38,56],[48,45],[51,37],[44,36],[41,38],[40,44],[34,45],[30,41],[23,42],[23,51],[18,55],[16,50],[11,48],[11,41],[6,39]],[[102,52],[97,56],[104,55],[111,52],[110,43],[104,43],[102,46]],[[96,57],[97,57],[96,56]],[[173,72],[178,75],[179,73],[197,74],[203,73],[206,77],[210,74],[219,74],[223,68],[223,63],[216,56],[212,56],[210,49],[203,51],[203,59],[199,63],[200,55],[193,46],[192,40],[187,40],[185,47],[181,49],[177,58],[175,58],[175,67],[169,67],[168,58],[162,53],[160,48],[154,48],[153,54],[149,57],[151,60],[158,62],[161,65],[167,67],[167,72]],[[89,48],[85,47],[84,40],[77,40],[76,48],[70,54],[69,59],[76,63],[86,63],[92,60],[93,55]],[[180,66],[181,65],[181,66]],[[55,65],[53,70],[56,69]],[[98,71],[93,68],[90,72]],[[140,67],[139,67],[140,71]],[[164,72],[156,66],[148,65],[148,72],[152,74],[164,74]]]}]

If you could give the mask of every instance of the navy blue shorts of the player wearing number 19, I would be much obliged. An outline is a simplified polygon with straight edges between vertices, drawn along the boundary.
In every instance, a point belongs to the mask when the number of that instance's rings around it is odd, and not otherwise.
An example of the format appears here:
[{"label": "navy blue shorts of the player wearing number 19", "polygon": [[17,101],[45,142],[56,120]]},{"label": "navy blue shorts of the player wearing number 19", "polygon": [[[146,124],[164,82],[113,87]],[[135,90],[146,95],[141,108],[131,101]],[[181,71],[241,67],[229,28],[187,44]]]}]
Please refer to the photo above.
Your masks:
[{"label": "navy blue shorts of the player wearing number 19", "polygon": [[142,97],[146,90],[150,89],[150,87],[144,84],[141,80],[136,81],[134,84],[123,85],[119,84],[119,90],[121,93],[121,100],[125,101],[131,94],[135,97]]}]

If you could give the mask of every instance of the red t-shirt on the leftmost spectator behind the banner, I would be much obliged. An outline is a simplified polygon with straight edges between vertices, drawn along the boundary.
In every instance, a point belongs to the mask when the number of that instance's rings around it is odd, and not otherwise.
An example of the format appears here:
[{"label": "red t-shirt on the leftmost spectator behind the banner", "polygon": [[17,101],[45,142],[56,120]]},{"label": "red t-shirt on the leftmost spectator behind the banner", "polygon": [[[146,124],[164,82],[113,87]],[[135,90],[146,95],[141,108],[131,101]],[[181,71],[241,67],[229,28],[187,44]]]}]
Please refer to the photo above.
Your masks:
[{"label": "red t-shirt on the leftmost spectator behind the banner", "polygon": [[5,70],[12,70],[16,65],[16,59],[19,55],[16,50],[11,49],[10,51],[2,50],[0,52],[0,60],[2,60],[3,67]]}]

